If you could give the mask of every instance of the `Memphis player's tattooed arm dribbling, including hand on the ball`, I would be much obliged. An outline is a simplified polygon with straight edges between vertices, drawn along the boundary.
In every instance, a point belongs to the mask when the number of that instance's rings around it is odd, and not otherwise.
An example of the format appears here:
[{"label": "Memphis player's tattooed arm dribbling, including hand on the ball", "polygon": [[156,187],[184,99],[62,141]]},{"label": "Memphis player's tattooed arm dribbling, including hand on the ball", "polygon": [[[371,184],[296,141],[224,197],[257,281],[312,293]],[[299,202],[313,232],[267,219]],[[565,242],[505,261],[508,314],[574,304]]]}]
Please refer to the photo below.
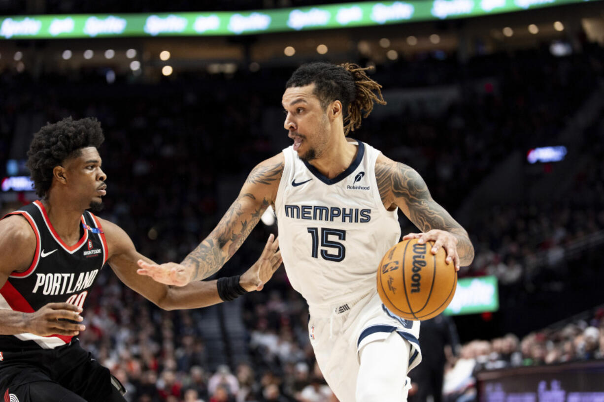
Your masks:
[{"label": "Memphis player's tattooed arm dribbling, including hand on the ball", "polygon": [[376,180],[385,208],[392,210],[398,206],[423,232],[408,234],[403,240],[434,240],[432,251],[435,253],[440,247],[445,247],[447,261],[454,261],[455,267],[472,263],[474,246],[467,232],[432,199],[426,182],[417,171],[380,155],[376,161]]}]

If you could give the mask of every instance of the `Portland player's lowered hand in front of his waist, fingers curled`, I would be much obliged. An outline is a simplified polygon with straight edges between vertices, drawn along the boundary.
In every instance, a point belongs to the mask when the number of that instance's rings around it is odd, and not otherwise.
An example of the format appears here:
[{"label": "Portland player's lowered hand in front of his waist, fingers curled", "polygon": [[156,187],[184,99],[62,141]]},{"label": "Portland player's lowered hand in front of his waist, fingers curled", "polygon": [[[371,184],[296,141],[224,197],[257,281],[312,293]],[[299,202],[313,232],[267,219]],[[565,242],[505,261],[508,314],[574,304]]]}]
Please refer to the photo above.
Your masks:
[{"label": "Portland player's lowered hand in front of his waist, fingers curled", "polygon": [[48,303],[34,313],[24,313],[25,329],[28,333],[39,336],[76,336],[86,329],[79,324],[83,320],[80,313],[82,308],[74,304]]}]

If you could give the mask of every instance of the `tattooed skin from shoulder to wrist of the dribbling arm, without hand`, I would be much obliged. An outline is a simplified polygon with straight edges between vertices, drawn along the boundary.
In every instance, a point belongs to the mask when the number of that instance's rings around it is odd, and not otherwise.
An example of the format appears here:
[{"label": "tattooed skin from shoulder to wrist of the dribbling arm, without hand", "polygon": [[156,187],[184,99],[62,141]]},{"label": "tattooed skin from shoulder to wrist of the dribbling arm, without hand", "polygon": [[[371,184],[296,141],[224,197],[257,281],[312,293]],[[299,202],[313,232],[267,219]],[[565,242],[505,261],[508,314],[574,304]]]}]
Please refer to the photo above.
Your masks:
[{"label": "tattooed skin from shoulder to wrist of the dribbling arm, without hand", "polygon": [[440,229],[457,237],[457,252],[461,265],[474,259],[474,246],[467,232],[455,219],[435,202],[422,176],[412,168],[397,164],[376,164],[376,180],[384,205],[388,200],[408,208],[408,218],[422,232]]}]

